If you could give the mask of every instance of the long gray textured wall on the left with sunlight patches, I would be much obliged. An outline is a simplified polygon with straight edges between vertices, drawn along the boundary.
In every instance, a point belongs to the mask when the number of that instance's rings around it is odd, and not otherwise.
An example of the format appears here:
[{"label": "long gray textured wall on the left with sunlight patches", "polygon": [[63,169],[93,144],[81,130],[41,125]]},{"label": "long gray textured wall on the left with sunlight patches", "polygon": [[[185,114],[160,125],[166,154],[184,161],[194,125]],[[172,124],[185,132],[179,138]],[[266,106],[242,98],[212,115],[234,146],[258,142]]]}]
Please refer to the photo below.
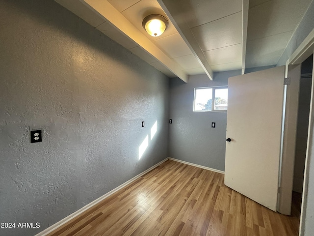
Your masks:
[{"label": "long gray textured wall on the left with sunlight patches", "polygon": [[53,0],[0,0],[0,82],[0,222],[40,223],[1,236],[41,232],[168,156],[169,78]]}]

